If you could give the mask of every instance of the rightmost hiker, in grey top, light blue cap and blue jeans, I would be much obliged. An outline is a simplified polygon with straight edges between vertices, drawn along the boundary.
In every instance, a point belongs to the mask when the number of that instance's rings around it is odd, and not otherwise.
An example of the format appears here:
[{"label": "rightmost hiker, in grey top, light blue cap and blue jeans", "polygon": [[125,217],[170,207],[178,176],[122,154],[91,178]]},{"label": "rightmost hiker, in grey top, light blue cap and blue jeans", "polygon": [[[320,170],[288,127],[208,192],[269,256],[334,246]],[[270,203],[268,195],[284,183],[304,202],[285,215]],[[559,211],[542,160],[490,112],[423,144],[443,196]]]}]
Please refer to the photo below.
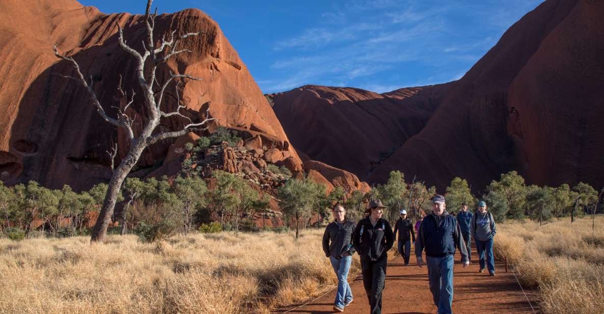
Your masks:
[{"label": "rightmost hiker, in grey top, light blue cap and blue jeans", "polygon": [[495,276],[495,259],[493,258],[493,238],[496,234],[495,219],[487,211],[487,203],[484,200],[478,202],[478,211],[474,213],[471,223],[472,237],[476,243],[476,251],[480,258],[480,270],[484,272],[484,260],[486,255],[486,265],[489,268],[489,275]]}]

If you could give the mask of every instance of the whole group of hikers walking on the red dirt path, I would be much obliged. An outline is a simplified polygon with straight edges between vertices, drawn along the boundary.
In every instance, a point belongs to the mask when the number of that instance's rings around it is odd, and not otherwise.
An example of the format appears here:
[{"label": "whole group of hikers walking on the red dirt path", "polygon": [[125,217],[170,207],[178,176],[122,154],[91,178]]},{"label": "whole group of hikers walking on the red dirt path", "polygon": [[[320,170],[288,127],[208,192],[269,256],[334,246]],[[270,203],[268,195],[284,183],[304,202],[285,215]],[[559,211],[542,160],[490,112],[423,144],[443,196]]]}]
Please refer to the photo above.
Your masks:
[{"label": "whole group of hikers walking on the red dirt path", "polygon": [[[432,198],[432,212],[421,217],[413,228],[406,210],[400,210],[400,219],[392,230],[387,219],[382,218],[385,207],[381,200],[372,200],[365,218],[358,223],[346,219],[346,209],[340,203],[333,207],[335,220],[327,225],[323,235],[323,251],[329,257],[338,277],[338,290],[333,310],[344,312],[352,300],[352,289],[347,281],[352,255],[361,257],[361,273],[371,314],[382,312],[382,290],[386,281],[388,251],[394,245],[398,232],[398,252],[405,265],[409,264],[411,243],[415,247],[417,266],[428,268],[429,289],[439,314],[452,313],[453,264],[455,249],[459,249],[461,263],[466,268],[471,259],[471,239],[474,239],[480,271],[487,267],[495,276],[493,237],[495,220],[487,211],[484,201],[478,202],[478,210],[472,214],[464,203],[457,216],[446,211],[445,197]],[[425,251],[426,260],[422,252]]]}]

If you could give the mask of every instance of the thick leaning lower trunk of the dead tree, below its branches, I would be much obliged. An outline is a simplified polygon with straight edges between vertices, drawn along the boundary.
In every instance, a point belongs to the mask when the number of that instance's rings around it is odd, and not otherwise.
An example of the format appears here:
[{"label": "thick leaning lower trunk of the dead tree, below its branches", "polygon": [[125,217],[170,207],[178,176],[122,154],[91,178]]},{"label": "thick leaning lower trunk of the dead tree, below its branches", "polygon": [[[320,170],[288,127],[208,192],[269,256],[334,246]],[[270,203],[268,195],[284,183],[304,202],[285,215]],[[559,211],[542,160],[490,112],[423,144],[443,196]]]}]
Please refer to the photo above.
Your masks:
[{"label": "thick leaning lower trunk of the dead tree, below its branches", "polygon": [[[159,118],[158,118],[159,121]],[[117,200],[118,194],[120,194],[121,185],[126,179],[130,170],[137,164],[138,158],[140,158],[141,153],[146,147],[146,139],[150,136],[150,133],[155,126],[150,128],[150,124],[155,124],[153,121],[149,121],[147,127],[143,130],[143,133],[149,133],[149,135],[145,136],[145,134],[141,135],[136,141],[132,144],[134,147],[130,147],[130,152],[126,156],[126,158],[122,159],[120,165],[115,168],[113,175],[111,176],[111,181],[109,181],[109,187],[107,189],[107,194],[105,196],[105,200],[103,202],[103,207],[101,207],[101,212],[98,214],[97,222],[94,224],[94,228],[92,228],[92,237],[90,239],[91,242],[103,242],[105,236],[107,235],[107,227],[109,226],[109,222],[111,221],[111,216],[113,215],[115,209],[115,202]]]}]

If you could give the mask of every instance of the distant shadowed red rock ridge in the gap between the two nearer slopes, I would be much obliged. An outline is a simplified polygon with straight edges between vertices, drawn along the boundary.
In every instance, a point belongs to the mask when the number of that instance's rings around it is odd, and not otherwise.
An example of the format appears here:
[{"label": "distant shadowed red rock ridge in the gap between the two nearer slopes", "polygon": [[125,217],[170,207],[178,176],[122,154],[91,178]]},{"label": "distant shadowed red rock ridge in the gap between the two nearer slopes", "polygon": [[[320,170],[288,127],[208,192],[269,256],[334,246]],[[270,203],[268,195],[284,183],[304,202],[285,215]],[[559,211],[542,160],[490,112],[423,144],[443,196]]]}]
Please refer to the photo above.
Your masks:
[{"label": "distant shadowed red rock ridge in the gap between the two nearer slopes", "polygon": [[422,130],[448,87],[376,94],[306,85],[269,97],[296,149],[309,159],[365,178],[376,164]]}]

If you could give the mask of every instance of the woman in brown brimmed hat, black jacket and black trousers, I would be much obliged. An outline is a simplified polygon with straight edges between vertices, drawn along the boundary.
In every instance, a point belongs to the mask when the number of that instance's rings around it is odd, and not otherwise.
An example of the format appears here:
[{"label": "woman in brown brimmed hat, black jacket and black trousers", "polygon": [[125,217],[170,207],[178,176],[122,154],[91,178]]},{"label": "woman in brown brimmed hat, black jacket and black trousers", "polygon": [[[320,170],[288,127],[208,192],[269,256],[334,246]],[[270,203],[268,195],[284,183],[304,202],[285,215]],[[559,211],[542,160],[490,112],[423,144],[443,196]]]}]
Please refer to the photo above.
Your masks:
[{"label": "woman in brown brimmed hat, black jacket and black trousers", "polygon": [[365,210],[366,217],[357,223],[352,242],[361,255],[361,271],[365,292],[369,299],[370,313],[382,313],[382,290],[386,281],[388,250],[394,244],[392,228],[382,218],[384,205],[381,200],[372,200]]}]

